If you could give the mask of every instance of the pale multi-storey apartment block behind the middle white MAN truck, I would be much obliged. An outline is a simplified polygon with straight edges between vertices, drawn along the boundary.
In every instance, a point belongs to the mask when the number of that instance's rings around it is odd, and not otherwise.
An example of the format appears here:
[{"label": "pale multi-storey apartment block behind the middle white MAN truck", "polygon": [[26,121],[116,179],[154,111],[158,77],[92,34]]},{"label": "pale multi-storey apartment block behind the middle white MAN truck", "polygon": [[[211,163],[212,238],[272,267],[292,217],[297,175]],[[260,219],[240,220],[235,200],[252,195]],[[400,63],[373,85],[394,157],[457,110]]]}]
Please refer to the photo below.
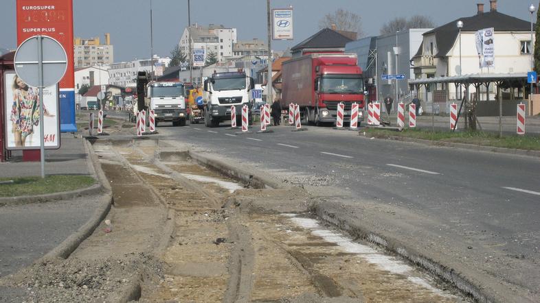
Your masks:
[{"label": "pale multi-storey apartment block behind the middle white MAN truck", "polygon": [[[205,60],[209,53],[215,53],[220,62],[232,58],[233,44],[236,43],[236,28],[214,24],[202,27],[195,24],[190,26],[189,30],[192,49],[205,49]],[[188,27],[185,27],[178,45],[190,60],[188,36]]]}]

